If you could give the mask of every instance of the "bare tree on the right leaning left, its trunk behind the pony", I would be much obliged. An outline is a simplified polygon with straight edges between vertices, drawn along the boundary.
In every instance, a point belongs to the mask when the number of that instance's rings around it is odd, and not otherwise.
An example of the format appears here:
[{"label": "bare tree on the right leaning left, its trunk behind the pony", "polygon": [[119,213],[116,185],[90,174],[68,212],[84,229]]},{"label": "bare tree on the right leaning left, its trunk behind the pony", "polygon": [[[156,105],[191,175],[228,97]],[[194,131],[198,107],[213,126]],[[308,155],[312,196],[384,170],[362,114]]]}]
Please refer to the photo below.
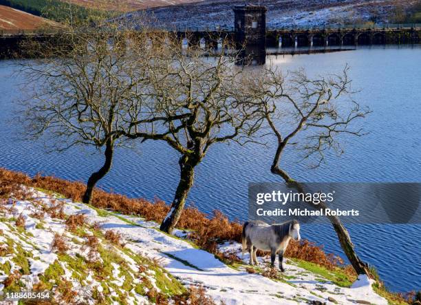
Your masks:
[{"label": "bare tree on the right leaning left, its trunk behind the pony", "polygon": [[[268,123],[270,134],[275,136],[277,145],[270,171],[280,176],[299,192],[305,193],[303,186],[294,180],[281,165],[286,149],[296,149],[301,161],[312,160],[317,167],[325,162],[325,154],[332,149],[336,154],[343,153],[343,136],[363,136],[363,129],[352,123],[364,118],[369,109],[361,107],[352,99],[349,67],[340,75],[309,78],[301,70],[283,75],[269,67],[253,79],[250,95],[259,97],[263,116]],[[323,204],[312,207],[325,209]],[[349,233],[335,216],[329,216],[349,262],[358,274],[369,275],[367,264],[360,260],[354,251]]]}]

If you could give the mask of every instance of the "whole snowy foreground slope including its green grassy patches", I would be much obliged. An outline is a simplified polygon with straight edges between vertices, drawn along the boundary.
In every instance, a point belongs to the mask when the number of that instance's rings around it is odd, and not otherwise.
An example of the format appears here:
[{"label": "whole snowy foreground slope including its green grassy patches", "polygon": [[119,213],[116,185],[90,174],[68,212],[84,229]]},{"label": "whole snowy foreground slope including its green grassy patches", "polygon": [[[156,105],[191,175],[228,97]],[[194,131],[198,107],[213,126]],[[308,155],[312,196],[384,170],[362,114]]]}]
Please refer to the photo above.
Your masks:
[{"label": "whole snowy foreground slope including its green grassy patches", "polygon": [[[179,236],[176,238],[160,232],[155,222],[31,191],[33,200],[10,200],[0,209],[0,242],[3,244],[0,291],[3,292],[10,289],[5,284],[10,274],[21,270],[24,275],[15,284],[32,288],[39,287],[39,281],[43,280],[47,289],[58,286],[58,290],[63,291],[65,280],[70,283],[67,287],[85,304],[96,304],[94,298],[98,299],[98,296],[109,303],[118,299],[125,299],[128,304],[153,303],[148,291],[155,289],[171,297],[184,289],[177,280],[185,287],[204,286],[207,295],[217,303],[225,304],[308,304],[313,301],[387,304],[374,293],[371,281],[364,277],[360,277],[353,288],[343,288],[288,260],[284,280],[270,280],[248,273],[246,265],[236,269],[227,266],[214,255],[180,238],[186,235],[183,231],[176,231]],[[42,215],[42,211],[60,207],[59,203],[63,204],[63,209],[54,210],[57,215]],[[65,220],[52,218],[58,217],[61,211],[66,215],[67,226]],[[74,215],[76,221],[80,214],[85,215],[90,225],[69,229],[69,215]],[[120,233],[125,245],[109,242],[108,231]],[[52,247],[56,234],[62,235],[67,243],[68,249],[64,252],[57,251],[57,245]],[[92,242],[95,238],[90,240],[89,236],[96,236],[99,244],[95,246]],[[93,247],[96,251],[91,251]],[[227,242],[220,247],[221,251],[238,253],[239,249],[236,242]],[[92,255],[92,252],[96,254]],[[244,260],[248,260],[248,255]],[[260,267],[265,268],[265,259],[259,260]]]}]

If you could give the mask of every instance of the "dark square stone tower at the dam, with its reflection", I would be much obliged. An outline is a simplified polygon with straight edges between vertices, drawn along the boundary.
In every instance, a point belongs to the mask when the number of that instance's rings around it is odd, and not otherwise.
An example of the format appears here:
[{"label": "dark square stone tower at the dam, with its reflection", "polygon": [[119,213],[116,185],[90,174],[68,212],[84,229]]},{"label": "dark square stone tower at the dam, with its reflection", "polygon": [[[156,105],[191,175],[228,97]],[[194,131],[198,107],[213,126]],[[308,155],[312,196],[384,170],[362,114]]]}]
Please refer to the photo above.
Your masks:
[{"label": "dark square stone tower at the dam, with its reflection", "polygon": [[241,64],[264,64],[266,61],[265,6],[235,6],[234,32],[237,50],[241,50]]}]

